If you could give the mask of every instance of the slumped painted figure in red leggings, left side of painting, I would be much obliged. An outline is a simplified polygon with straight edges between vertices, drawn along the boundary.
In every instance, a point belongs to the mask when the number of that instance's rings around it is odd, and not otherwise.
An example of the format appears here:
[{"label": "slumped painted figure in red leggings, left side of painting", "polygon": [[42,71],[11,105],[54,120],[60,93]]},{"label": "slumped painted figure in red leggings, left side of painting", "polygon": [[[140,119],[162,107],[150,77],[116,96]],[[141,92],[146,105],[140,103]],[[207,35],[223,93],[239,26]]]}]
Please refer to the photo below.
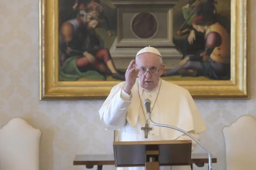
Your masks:
[{"label": "slumped painted figure in red leggings, left side of painting", "polygon": [[[116,71],[109,50],[104,48],[103,41],[96,34],[95,27],[97,25],[97,12],[85,10],[79,10],[75,19],[68,20],[61,25],[61,66],[69,64],[69,67],[74,67],[74,59],[76,59],[76,68],[67,68],[66,66],[63,72],[74,73],[76,71],[79,72],[77,74],[81,74],[87,71],[96,71],[103,77],[112,75],[114,79],[125,80],[125,75]],[[70,59],[70,57],[73,58]],[[90,76],[90,78],[93,77]]]}]

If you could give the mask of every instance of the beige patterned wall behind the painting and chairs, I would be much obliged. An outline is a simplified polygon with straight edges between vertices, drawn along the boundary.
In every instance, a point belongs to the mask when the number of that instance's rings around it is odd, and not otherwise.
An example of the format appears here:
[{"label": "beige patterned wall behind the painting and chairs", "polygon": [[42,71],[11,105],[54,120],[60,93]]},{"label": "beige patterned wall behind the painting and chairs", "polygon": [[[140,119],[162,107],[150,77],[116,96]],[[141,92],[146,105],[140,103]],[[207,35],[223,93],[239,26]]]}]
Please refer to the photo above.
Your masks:
[{"label": "beige patterned wall behind the painting and chairs", "polygon": [[[43,132],[41,170],[84,170],[73,166],[77,153],[112,153],[113,133],[99,122],[103,101],[39,102],[39,0],[0,2],[0,126],[20,116]],[[251,72],[255,73],[256,1],[251,2]],[[253,77],[254,76],[254,77]],[[207,123],[202,142],[217,156],[213,169],[225,170],[221,129],[242,114],[256,116],[255,74],[249,101],[196,101]],[[90,130],[88,130],[90,128]],[[202,151],[197,148],[197,151]],[[203,152],[203,151],[202,151]],[[113,169],[113,166],[107,167]],[[207,169],[204,168],[196,168]]]}]

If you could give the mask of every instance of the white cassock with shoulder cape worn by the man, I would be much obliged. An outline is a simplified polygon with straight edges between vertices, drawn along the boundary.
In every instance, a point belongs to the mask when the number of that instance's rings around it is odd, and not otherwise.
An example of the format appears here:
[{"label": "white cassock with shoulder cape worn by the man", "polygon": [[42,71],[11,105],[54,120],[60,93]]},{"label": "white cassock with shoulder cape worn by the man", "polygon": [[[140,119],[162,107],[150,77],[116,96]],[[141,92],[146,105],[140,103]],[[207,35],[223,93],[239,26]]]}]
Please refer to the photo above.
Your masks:
[{"label": "white cassock with shoulder cape worn by the man", "polygon": [[[129,96],[123,91],[124,86],[125,82],[115,85],[99,110],[100,119],[105,123],[106,129],[118,130],[117,141],[192,140],[177,130],[157,127],[149,121],[147,123],[153,130],[148,131],[148,138],[145,138],[145,131],[141,130],[148,120],[145,99],[151,101],[153,122],[178,127],[198,140],[198,133],[206,130],[195,102],[186,89],[160,79],[158,87],[148,91],[140,86],[137,79]],[[196,145],[192,140],[192,151]],[[118,167],[117,170],[145,170],[145,167]],[[160,170],[191,170],[191,167],[161,166]]]}]

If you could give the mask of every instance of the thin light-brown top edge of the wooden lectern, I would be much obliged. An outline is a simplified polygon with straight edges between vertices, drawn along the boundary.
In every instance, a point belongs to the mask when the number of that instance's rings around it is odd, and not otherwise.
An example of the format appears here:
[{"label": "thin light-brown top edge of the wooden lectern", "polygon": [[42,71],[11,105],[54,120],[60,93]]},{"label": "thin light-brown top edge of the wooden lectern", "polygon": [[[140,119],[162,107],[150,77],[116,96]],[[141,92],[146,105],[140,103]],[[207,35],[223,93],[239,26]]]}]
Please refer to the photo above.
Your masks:
[{"label": "thin light-brown top edge of the wooden lectern", "polygon": [[113,145],[131,144],[190,144],[192,140],[168,140],[168,141],[132,141],[132,142],[113,142]]}]

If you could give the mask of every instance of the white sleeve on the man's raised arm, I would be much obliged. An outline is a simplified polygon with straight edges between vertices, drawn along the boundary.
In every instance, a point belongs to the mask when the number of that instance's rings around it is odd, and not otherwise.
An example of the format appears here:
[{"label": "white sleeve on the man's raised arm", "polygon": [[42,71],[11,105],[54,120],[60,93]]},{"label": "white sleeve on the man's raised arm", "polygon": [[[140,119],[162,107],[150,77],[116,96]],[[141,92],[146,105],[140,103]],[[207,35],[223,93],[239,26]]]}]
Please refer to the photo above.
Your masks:
[{"label": "white sleeve on the man's raised arm", "polygon": [[[120,88],[121,87],[121,88]],[[99,110],[100,119],[105,125],[122,127],[126,123],[126,113],[131,105],[132,94],[125,93],[122,85],[116,85]]]}]

